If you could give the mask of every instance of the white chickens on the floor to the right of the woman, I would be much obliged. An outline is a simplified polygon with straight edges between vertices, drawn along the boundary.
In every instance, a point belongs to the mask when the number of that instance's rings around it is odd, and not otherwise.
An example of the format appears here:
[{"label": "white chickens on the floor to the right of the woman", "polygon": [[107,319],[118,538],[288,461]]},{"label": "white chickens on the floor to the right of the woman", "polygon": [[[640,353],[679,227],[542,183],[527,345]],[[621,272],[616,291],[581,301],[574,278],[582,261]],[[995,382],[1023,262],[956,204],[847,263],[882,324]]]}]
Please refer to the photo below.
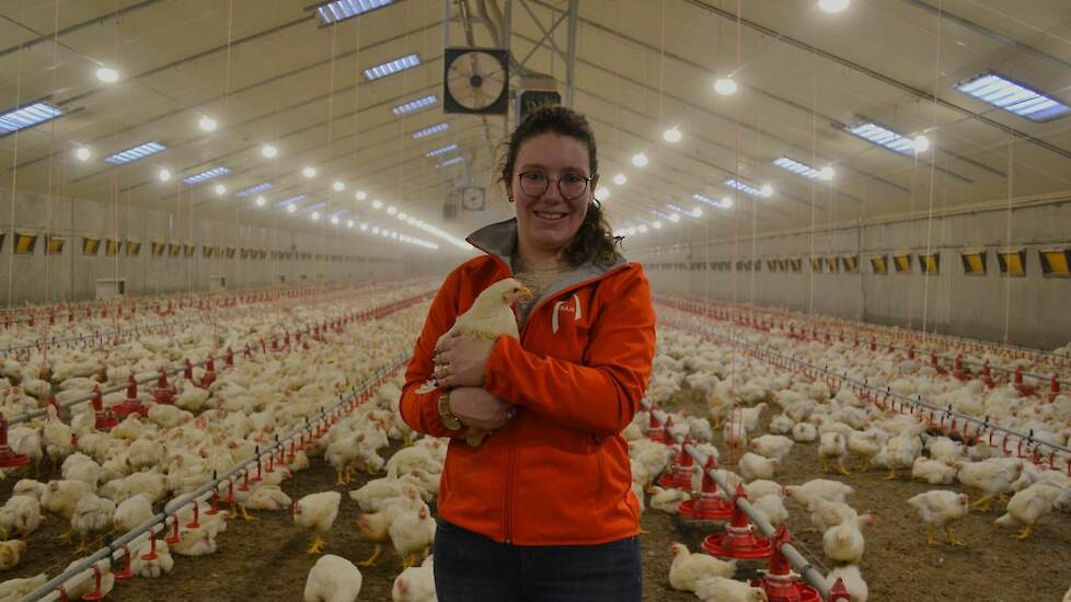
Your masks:
[{"label": "white chickens on the floor to the right of the woman", "polygon": [[[1068,458],[1059,458],[1057,470],[1050,470],[1047,462],[1035,464],[1014,453],[1007,456],[986,438],[965,441],[958,436],[946,437],[919,415],[882,409],[850,387],[830,391],[826,380],[760,361],[727,341],[772,347],[860,381],[887,383],[905,395],[921,394],[938,406],[988,416],[993,425],[1021,432],[1033,429],[1037,440],[1059,445],[1067,445],[1071,436],[1069,395],[1059,395],[1050,403],[1044,397],[1024,396],[1011,385],[989,389],[977,380],[961,383],[942,377],[926,363],[885,351],[860,354],[852,344],[798,341],[787,333],[711,323],[672,309],[660,309],[659,319],[664,325],[682,328],[659,329],[647,400],[672,404],[682,389],[701,390],[709,400],[706,416],[669,413],[667,430],[678,440],[690,439],[704,456],[721,456],[723,466],[735,464],[734,470],[718,468],[719,476],[732,489],[742,485],[752,508],[772,525],[788,520],[786,503],[804,510],[810,526],[822,534],[825,560],[836,567],[828,575],[829,584],[842,579],[855,602],[865,602],[868,595],[859,565],[865,548],[863,534],[876,518],[853,508],[853,488],[839,481],[818,478],[796,486],[776,483],[781,464],[793,451],[805,449],[805,453],[816,454],[824,472],[847,475],[845,464],[854,463],[857,471],[886,470],[889,479],[900,471],[913,479],[944,486],[905,500],[926,524],[928,541],[934,545],[966,545],[954,533],[955,523],[971,507],[989,511],[998,499],[1005,506],[995,524],[1022,528],[1020,539],[1028,537],[1043,517],[1053,511],[1071,512]],[[999,361],[980,359],[994,364]],[[771,417],[765,421],[763,415]],[[650,415],[641,412],[624,431],[630,440],[633,490],[641,501],[644,493],[649,494],[647,507],[677,513],[691,494],[654,485],[659,474],[672,467],[676,451],[652,441],[647,437],[649,425]],[[700,489],[701,473],[699,465],[692,468],[692,490]],[[718,494],[730,497],[726,491]],[[980,497],[971,502],[968,494]],[[943,533],[944,544],[937,532]],[[673,589],[713,602],[765,600],[760,588],[733,579],[735,562],[690,553],[681,544],[673,546],[673,554],[669,575]],[[1071,600],[1071,591],[1067,600]]]}]

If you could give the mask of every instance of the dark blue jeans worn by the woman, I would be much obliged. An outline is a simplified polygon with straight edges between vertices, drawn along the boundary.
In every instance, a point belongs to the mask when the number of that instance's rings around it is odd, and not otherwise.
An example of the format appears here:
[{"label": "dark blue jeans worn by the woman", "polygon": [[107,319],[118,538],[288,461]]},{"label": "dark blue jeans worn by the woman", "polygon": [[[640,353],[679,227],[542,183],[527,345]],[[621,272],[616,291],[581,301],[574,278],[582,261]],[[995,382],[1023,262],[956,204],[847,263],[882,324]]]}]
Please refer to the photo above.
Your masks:
[{"label": "dark blue jeans worn by the woman", "polygon": [[640,602],[640,537],[599,545],[516,546],[439,519],[439,602]]}]

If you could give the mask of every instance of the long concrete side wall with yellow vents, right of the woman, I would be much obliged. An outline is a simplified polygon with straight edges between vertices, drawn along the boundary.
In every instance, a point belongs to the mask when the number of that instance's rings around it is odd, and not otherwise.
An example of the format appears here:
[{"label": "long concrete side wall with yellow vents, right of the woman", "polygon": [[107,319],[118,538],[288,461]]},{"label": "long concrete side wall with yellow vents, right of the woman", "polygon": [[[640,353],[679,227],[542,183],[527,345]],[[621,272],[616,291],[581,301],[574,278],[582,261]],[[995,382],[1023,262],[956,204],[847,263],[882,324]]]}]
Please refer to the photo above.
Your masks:
[{"label": "long concrete side wall with yellow vents, right of the woman", "polygon": [[[1010,230],[1009,230],[1010,228]],[[922,273],[918,253],[941,253],[940,273]],[[1011,241],[1012,244],[1007,244]],[[987,250],[984,276],[965,274],[960,251]],[[1000,276],[998,248],[1027,248],[1026,277]],[[934,219],[901,220],[736,241],[686,240],[630,257],[647,264],[655,291],[719,301],[828,314],[878,324],[922,328],[971,338],[1053,348],[1071,340],[1071,279],[1041,275],[1037,250],[1071,247],[1071,204],[1036,205],[1009,212],[979,211]],[[815,255],[857,254],[859,273],[815,274]],[[873,273],[868,258],[911,252],[910,274]],[[737,259],[763,259],[761,271],[736,270]],[[802,257],[799,273],[771,273],[765,259]],[[710,262],[733,261],[729,271]],[[891,261],[891,257],[889,257]],[[678,268],[669,265],[677,264]],[[680,264],[692,269],[680,269]],[[701,265],[706,264],[706,265]]]}]

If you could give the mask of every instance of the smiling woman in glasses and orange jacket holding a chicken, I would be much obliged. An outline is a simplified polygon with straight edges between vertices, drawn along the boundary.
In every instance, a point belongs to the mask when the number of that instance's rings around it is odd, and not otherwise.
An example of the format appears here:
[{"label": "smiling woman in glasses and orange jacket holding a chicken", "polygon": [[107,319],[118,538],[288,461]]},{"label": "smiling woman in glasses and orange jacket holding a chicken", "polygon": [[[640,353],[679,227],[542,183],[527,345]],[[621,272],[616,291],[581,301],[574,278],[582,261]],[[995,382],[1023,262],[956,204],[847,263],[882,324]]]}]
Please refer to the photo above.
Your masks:
[{"label": "smiling woman in glasses and orange jacket holding a chicken", "polygon": [[[638,507],[620,431],[650,375],[650,290],[618,254],[595,200],[595,136],[581,115],[530,114],[510,136],[500,177],[517,217],[469,238],[486,255],[442,283],[402,393],[411,427],[452,438],[437,593],[442,602],[638,601]],[[519,341],[442,337],[480,291],[508,277],[533,293],[517,303]],[[433,377],[439,390],[418,393]],[[468,427],[493,433],[471,447]]]}]

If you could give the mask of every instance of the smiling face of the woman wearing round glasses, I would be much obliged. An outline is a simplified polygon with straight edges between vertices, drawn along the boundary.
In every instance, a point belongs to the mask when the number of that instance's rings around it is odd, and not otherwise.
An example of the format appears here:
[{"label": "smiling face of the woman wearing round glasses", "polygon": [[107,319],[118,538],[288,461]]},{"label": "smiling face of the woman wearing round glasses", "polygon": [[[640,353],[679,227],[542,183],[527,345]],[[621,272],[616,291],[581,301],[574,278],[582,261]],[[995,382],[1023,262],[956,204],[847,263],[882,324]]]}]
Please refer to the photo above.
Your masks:
[{"label": "smiling face of the woman wearing round glasses", "polygon": [[[538,190],[538,176],[546,180],[546,192],[538,196],[525,189]],[[521,177],[527,181],[521,185]],[[561,186],[568,192],[569,182],[577,177],[591,177],[588,148],[576,138],[557,134],[541,134],[521,143],[514,163],[514,177],[506,188],[517,209],[517,235],[521,247],[556,253],[568,245],[584,223],[598,183],[596,177],[576,198],[566,199],[558,188],[558,178],[566,178]]]}]

